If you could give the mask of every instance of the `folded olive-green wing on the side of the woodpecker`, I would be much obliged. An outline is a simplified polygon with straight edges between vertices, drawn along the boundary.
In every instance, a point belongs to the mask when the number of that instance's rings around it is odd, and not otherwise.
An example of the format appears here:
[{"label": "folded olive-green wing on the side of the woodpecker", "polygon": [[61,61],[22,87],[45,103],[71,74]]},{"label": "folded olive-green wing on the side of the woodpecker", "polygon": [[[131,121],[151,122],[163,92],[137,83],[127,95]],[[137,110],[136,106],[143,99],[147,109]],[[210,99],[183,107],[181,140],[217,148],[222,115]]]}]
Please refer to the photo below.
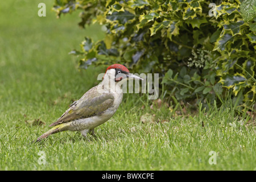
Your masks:
[{"label": "folded olive-green wing on the side of the woodpecker", "polygon": [[113,105],[114,95],[112,93],[102,94],[97,91],[97,86],[88,90],[80,100],[73,102],[71,107],[69,107],[55,123],[49,126],[59,125],[79,118],[89,118],[104,113],[105,110]]}]

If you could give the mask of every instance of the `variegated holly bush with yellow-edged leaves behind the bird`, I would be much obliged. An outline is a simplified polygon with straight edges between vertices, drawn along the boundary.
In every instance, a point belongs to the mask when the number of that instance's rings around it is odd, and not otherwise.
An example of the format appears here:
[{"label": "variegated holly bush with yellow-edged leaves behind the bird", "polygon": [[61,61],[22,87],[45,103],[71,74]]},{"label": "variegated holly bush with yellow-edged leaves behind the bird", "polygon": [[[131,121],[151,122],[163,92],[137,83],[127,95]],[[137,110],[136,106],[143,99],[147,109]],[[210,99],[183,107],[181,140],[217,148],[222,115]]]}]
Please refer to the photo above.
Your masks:
[{"label": "variegated holly bush with yellow-edged leaves behind the bird", "polygon": [[256,110],[255,0],[56,0],[53,10],[79,10],[79,26],[106,29],[104,39],[86,36],[70,52],[80,68],[120,63],[160,73],[171,102],[221,105],[230,90],[238,111]]}]

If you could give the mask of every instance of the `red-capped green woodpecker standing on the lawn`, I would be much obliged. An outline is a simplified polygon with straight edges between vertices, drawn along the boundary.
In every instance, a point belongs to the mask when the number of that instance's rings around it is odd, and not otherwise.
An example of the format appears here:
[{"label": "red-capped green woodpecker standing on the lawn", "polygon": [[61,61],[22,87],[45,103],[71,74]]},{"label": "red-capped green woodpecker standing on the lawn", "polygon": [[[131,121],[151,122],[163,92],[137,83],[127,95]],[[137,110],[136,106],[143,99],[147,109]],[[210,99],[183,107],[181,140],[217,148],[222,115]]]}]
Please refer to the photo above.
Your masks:
[{"label": "red-capped green woodpecker standing on the lawn", "polygon": [[80,131],[84,138],[94,135],[94,128],[113,117],[122,102],[122,84],[128,79],[143,80],[129,72],[122,64],[110,65],[102,81],[89,89],[79,100],[73,102],[56,122],[49,125],[49,131],[38,137],[40,142],[49,135],[61,131]]}]

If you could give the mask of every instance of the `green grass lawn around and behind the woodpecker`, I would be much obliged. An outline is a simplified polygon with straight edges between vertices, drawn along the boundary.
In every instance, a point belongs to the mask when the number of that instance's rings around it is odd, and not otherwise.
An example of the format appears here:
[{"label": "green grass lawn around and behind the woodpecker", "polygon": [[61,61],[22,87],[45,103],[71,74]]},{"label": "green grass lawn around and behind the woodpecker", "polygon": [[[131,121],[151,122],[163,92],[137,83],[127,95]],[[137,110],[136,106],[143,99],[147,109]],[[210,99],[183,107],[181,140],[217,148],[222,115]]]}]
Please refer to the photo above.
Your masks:
[{"label": "green grass lawn around and behind the woodpecker", "polygon": [[[85,35],[101,39],[101,28],[80,29],[77,13],[56,19],[51,1],[44,1],[47,16],[40,18],[39,2],[0,3],[1,170],[256,169],[255,126],[236,117],[229,101],[195,117],[173,118],[167,107],[150,109],[146,96],[125,94],[117,113],[97,127],[90,142],[67,131],[31,144],[103,72],[79,72],[76,57],[68,55]],[[142,123],[146,113],[167,122]],[[34,119],[46,125],[26,123]],[[46,154],[45,165],[38,163],[39,151]],[[208,163],[210,151],[217,152],[216,165]]]}]

